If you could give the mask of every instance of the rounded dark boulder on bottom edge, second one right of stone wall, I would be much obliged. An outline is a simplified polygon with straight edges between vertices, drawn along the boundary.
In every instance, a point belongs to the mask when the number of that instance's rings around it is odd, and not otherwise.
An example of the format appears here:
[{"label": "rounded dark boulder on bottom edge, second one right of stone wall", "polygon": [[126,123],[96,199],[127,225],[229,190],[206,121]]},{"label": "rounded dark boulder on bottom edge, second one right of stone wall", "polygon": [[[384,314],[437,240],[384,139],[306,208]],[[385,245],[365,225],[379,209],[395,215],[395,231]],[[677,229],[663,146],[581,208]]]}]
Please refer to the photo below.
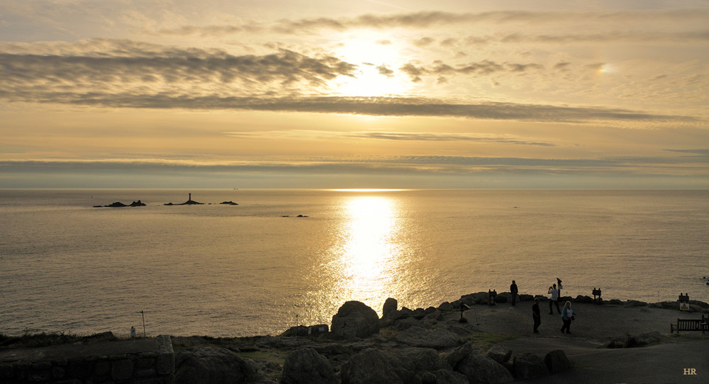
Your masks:
[{"label": "rounded dark boulder on bottom edge, second one right of stone wall", "polygon": [[283,363],[281,384],[337,384],[333,366],[312,348],[296,349]]}]

